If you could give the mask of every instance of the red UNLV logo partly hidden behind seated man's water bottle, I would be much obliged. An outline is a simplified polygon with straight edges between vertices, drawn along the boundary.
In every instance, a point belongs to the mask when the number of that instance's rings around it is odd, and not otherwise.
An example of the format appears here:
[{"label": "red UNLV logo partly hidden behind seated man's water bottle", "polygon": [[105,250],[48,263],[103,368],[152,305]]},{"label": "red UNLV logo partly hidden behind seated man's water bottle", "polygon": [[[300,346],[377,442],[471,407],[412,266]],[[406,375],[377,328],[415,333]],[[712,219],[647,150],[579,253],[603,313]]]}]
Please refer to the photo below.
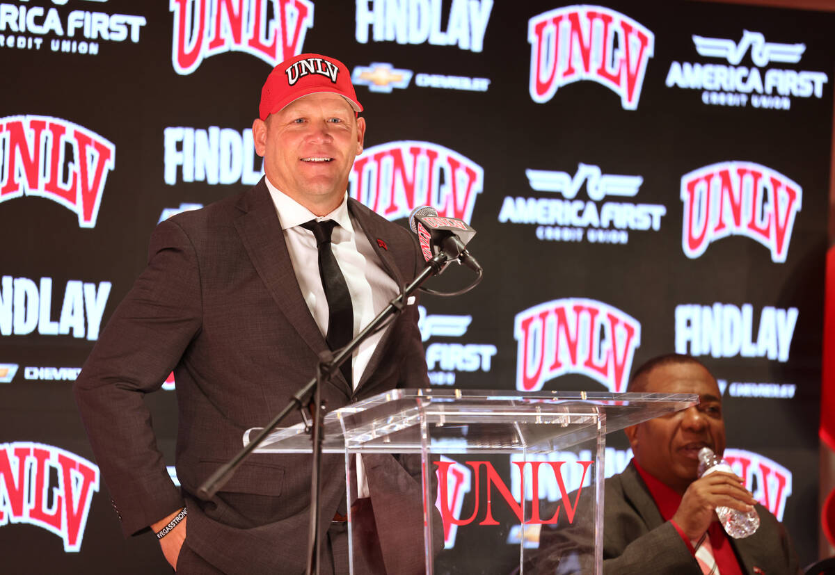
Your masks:
[{"label": "red UNLV logo partly hidden behind seated man's water bottle", "polygon": [[733,472],[745,480],[745,487],[752,492],[763,507],[782,521],[786,500],[792,495],[792,472],[771,459],[744,449],[726,449],[725,461]]}]

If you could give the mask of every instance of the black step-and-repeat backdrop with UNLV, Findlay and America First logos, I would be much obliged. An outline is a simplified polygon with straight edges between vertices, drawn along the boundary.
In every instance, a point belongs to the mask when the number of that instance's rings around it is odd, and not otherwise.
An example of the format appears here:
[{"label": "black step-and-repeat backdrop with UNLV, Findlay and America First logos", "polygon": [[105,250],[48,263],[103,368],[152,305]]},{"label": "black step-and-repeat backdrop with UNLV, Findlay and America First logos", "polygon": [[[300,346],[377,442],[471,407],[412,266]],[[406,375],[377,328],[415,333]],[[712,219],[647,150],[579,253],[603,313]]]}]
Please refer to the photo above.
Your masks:
[{"label": "black step-and-repeat backdrop with UNLV, Findlay and America First logos", "polygon": [[[651,356],[696,356],[726,455],[811,562],[833,24],[684,2],[0,3],[0,571],[164,572],[153,534],[121,537],[71,386],[154,225],[261,178],[261,84],[302,52],[347,63],[366,108],[349,193],[478,230],[481,285],[422,300],[433,386],[625,391]],[[171,466],[175,385],[146,398]],[[608,438],[607,475],[628,447]],[[491,537],[509,571],[524,535]]]}]

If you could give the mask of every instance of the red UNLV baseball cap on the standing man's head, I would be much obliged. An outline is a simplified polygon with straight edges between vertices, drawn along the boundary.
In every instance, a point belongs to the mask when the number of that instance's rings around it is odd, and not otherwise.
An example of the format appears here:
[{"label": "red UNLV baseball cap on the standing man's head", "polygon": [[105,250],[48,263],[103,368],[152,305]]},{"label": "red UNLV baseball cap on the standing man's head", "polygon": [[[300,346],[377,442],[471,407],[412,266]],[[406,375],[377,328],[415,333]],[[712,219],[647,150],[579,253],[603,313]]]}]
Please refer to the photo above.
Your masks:
[{"label": "red UNLV baseball cap on the standing man's head", "polygon": [[347,66],[337,58],[307,53],[272,68],[261,88],[259,117],[266,120],[293,100],[317,92],[338,93],[351,104],[354,112],[362,112]]}]

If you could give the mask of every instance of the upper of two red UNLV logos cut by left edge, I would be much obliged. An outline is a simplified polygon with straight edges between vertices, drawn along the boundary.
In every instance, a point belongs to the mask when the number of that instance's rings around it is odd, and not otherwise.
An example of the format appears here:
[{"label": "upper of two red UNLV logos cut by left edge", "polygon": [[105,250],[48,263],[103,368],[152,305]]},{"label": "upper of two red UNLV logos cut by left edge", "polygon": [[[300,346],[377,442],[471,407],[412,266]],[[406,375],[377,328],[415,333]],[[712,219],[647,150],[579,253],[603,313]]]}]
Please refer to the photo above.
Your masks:
[{"label": "upper of two red UNLV logos cut by left edge", "polygon": [[0,118],[0,202],[52,199],[93,228],[116,147],[78,124],[49,116]]}]

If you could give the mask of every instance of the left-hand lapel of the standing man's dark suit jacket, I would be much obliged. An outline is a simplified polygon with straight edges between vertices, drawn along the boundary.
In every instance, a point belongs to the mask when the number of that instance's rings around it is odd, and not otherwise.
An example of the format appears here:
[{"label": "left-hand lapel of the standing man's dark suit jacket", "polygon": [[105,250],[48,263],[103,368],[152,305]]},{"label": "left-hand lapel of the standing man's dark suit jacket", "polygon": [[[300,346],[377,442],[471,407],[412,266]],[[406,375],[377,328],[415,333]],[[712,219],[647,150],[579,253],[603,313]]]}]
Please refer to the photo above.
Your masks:
[{"label": "left-hand lapel of the standing man's dark suit jacket", "polygon": [[[317,355],[326,351],[325,338],[301,295],[276,206],[272,203],[264,179],[243,194],[236,207],[241,214],[235,219],[235,229],[272,299],[311,350]],[[337,370],[332,382],[348,396],[351,395],[340,371]]]}]

